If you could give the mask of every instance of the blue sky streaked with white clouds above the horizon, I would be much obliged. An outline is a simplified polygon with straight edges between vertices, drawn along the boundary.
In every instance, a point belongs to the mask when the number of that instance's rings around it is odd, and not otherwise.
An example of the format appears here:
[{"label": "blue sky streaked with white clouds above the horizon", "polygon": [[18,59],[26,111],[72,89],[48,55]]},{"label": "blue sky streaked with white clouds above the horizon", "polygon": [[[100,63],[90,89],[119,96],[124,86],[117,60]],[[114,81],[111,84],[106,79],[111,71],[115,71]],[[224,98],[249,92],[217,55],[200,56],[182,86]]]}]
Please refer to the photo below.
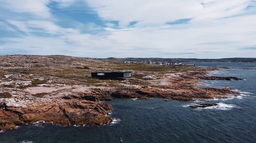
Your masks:
[{"label": "blue sky streaked with white clouds above the horizon", "polygon": [[256,1],[0,0],[0,55],[256,58]]}]

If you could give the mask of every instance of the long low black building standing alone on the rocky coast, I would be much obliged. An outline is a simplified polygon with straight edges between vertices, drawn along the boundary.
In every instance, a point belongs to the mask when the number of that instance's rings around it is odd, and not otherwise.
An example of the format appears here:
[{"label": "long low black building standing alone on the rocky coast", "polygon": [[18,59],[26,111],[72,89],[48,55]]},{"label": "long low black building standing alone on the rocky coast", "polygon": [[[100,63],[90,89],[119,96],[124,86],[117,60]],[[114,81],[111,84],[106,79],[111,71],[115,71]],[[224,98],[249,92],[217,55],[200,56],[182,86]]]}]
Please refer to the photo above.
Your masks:
[{"label": "long low black building standing alone on the rocky coast", "polygon": [[116,79],[123,77],[132,77],[132,72],[92,72],[92,77],[100,79]]}]

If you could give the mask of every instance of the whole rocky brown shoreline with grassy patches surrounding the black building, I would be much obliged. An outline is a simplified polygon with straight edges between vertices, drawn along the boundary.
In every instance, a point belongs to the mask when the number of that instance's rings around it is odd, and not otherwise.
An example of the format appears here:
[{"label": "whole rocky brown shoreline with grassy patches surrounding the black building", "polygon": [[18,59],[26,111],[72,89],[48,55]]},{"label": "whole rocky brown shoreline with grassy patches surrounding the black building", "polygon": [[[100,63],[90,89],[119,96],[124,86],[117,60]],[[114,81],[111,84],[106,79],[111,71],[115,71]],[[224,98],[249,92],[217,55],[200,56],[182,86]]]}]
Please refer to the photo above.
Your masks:
[{"label": "whole rocky brown shoreline with grassy patches surrounding the black building", "polygon": [[[232,88],[195,85],[201,83],[200,79],[241,80],[210,76],[208,73],[216,68],[122,65],[69,56],[10,55],[0,56],[0,61],[0,130],[37,121],[68,126],[110,124],[113,119],[109,110],[113,107],[104,101],[112,98],[159,97],[166,101],[228,98],[239,93]],[[99,70],[129,70],[134,77],[122,81],[90,77],[90,72]]]}]

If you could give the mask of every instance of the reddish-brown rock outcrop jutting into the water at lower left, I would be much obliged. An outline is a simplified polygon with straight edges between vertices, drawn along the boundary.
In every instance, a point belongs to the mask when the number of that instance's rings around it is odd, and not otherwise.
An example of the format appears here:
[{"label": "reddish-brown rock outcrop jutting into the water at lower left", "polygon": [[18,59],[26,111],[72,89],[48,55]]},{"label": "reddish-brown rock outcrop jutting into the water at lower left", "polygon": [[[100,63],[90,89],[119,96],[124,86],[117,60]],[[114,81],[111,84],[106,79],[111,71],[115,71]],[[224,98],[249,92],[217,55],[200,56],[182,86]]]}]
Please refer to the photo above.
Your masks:
[{"label": "reddish-brown rock outcrop jutting into the water at lower left", "polygon": [[0,130],[15,129],[18,125],[45,121],[56,125],[103,125],[112,122],[108,117],[109,104],[89,100],[61,100],[27,107],[0,105]]}]

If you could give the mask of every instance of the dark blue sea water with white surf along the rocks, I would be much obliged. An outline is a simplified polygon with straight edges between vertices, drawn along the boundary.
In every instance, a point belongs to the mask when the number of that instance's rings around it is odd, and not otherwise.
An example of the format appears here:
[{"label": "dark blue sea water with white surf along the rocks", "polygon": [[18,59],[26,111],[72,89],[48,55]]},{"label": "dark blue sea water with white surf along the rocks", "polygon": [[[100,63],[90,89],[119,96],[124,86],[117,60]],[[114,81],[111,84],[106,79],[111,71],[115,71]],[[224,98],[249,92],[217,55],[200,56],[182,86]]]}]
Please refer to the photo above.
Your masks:
[{"label": "dark blue sea water with white surf along the rocks", "polygon": [[[233,87],[243,93],[226,100],[196,102],[114,99],[116,124],[93,127],[21,126],[0,134],[0,142],[256,142],[256,63],[195,63],[230,66],[212,72],[239,81],[205,81],[201,87]],[[191,109],[188,105],[218,103]]]}]

